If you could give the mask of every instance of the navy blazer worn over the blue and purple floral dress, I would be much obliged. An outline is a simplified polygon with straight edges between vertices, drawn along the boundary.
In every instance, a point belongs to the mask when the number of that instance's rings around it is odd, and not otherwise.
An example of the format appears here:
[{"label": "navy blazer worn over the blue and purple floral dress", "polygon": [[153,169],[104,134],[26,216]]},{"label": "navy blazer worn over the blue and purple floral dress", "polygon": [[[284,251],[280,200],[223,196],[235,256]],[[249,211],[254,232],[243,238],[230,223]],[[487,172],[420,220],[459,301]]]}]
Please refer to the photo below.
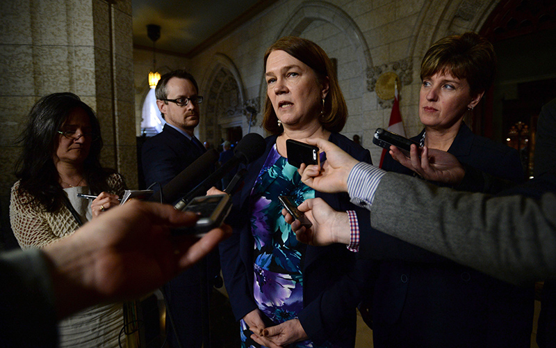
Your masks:
[{"label": "navy blazer worn over the blue and purple floral dress", "polygon": [[[277,136],[265,139],[265,153],[247,167],[245,185],[234,196],[234,207],[227,219],[234,233],[219,246],[224,282],[238,320],[257,308],[253,296],[254,239],[248,198],[276,139]],[[345,136],[333,133],[329,141],[359,161],[371,163],[369,151]],[[336,210],[355,210],[361,221],[366,220],[370,224],[368,211],[352,205],[347,193],[316,192],[316,197],[324,199]],[[353,347],[355,308],[360,298],[359,277],[354,274],[365,272],[364,264],[357,263],[355,254],[348,251],[345,245],[333,244],[324,247],[306,246],[301,267],[304,308],[298,317],[303,329],[317,345],[329,340],[336,344],[335,347]]]}]

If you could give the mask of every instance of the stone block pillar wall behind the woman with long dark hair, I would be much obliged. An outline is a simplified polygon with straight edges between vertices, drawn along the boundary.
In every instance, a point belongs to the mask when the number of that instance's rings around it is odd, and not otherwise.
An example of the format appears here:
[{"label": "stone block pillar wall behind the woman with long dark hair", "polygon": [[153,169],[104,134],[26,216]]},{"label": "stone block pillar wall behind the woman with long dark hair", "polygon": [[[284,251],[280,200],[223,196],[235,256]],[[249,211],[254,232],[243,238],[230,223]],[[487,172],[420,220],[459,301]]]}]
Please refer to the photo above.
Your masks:
[{"label": "stone block pillar wall behind the woman with long dark hair", "polygon": [[16,140],[44,95],[72,92],[89,104],[101,123],[102,164],[137,185],[131,0],[3,1],[0,23],[0,208],[9,237]]}]

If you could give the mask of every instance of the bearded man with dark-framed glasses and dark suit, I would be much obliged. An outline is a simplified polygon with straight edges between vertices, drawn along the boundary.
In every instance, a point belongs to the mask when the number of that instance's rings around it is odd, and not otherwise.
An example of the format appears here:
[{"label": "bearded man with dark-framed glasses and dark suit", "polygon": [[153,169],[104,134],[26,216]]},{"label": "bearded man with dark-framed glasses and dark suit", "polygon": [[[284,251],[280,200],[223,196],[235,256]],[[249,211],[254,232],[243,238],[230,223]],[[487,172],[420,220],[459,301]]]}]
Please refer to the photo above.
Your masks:
[{"label": "bearded man with dark-framed glasses and dark suit", "polygon": [[[160,134],[142,146],[142,168],[147,187],[155,184],[156,191],[170,182],[183,169],[201,156],[206,149],[193,134],[199,125],[199,95],[197,81],[186,70],[164,74],[156,85],[156,104],[166,121]],[[182,192],[181,196],[187,192]],[[171,317],[167,317],[167,337],[170,347],[202,346],[202,286],[201,274],[209,279],[206,292],[210,294],[218,277],[218,251],[164,285],[163,292]],[[170,324],[173,323],[173,329]],[[179,340],[179,342],[177,341]]]}]

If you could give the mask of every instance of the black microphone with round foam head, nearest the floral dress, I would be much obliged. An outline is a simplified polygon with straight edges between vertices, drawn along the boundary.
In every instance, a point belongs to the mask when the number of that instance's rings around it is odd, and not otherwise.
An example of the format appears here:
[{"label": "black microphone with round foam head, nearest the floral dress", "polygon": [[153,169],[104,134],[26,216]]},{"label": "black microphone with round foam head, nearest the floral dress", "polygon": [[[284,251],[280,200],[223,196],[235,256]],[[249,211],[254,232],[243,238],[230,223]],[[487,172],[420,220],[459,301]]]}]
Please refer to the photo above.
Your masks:
[{"label": "black microphone with round foam head, nearest the floral dress", "polygon": [[190,200],[197,196],[205,196],[206,191],[214,186],[218,180],[222,179],[226,173],[231,171],[238,164],[249,164],[250,162],[258,159],[265,152],[266,143],[265,139],[259,134],[249,133],[245,134],[243,139],[241,139],[234,150],[234,157],[231,157],[229,161],[222,164],[214,173],[209,175],[205,180],[190,191],[186,196],[183,196],[181,200],[174,205],[174,209],[181,210],[186,207]]}]

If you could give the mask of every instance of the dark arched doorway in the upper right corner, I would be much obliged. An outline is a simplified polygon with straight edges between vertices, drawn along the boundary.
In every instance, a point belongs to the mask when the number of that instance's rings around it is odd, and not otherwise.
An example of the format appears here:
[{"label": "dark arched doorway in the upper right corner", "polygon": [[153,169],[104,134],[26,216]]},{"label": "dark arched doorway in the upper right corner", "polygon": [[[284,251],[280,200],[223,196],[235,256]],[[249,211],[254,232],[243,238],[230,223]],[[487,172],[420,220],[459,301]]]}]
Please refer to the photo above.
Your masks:
[{"label": "dark arched doorway in the upper right corner", "polygon": [[500,1],[480,33],[494,45],[498,72],[473,131],[517,148],[532,174],[537,118],[556,97],[556,3]]}]

